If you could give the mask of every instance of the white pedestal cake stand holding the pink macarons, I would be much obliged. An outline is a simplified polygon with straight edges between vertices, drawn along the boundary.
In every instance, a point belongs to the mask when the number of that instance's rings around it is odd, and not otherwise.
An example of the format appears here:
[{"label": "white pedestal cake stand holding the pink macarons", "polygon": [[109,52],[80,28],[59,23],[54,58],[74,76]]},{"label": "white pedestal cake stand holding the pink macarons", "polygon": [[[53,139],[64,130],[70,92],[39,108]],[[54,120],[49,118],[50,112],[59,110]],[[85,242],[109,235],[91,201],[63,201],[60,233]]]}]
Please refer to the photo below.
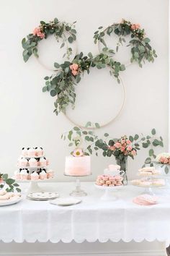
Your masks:
[{"label": "white pedestal cake stand holding the pink macarons", "polygon": [[102,189],[104,191],[104,195],[102,195],[101,200],[104,201],[110,201],[110,200],[117,200],[117,195],[113,195],[112,192],[116,192],[118,189],[122,189],[124,186],[114,186],[114,187],[105,187],[105,186],[99,186],[97,184],[95,184],[95,187],[97,187],[97,189]]}]

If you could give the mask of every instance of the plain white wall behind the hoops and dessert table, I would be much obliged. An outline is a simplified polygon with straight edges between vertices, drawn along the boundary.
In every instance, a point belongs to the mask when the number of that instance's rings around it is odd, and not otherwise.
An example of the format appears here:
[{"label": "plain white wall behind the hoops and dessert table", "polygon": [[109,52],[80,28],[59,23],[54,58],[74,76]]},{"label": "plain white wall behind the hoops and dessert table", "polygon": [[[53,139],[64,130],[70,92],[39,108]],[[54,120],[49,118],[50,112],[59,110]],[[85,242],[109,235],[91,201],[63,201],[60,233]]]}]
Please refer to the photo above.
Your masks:
[{"label": "plain white wall behind the hoops and dessert table", "polygon": [[[125,108],[117,121],[98,133],[101,135],[109,132],[114,137],[120,137],[136,132],[145,134],[155,127],[158,134],[164,137],[164,150],[167,150],[168,0],[0,0],[0,5],[1,171],[13,173],[22,146],[41,145],[45,148],[51,167],[56,170],[57,179],[69,180],[63,176],[64,160],[69,149],[60,137],[72,124],[63,114],[58,117],[53,114],[53,98],[48,93],[42,93],[43,77],[50,72],[43,69],[33,57],[27,64],[22,60],[22,38],[32,32],[40,20],[48,21],[54,17],[67,22],[77,21],[78,50],[85,54],[89,51],[97,54],[92,37],[99,25],[107,26],[124,17],[140,23],[146,29],[158,58],[154,64],[146,64],[143,69],[133,64],[122,74],[127,90]],[[50,41],[48,47],[50,48]],[[93,99],[96,103],[96,95],[102,99],[102,90],[108,90],[109,97],[111,82],[109,75],[103,73],[104,80],[100,82],[99,89],[95,88],[97,81],[99,82],[99,71],[91,73],[85,79],[88,79],[87,89],[97,90],[91,97],[91,101]],[[81,88],[82,85],[79,85],[78,102],[88,95],[88,90],[84,91],[82,88],[83,94]],[[104,103],[107,103],[107,94],[104,95]],[[91,103],[91,108],[94,103]],[[78,108],[79,106],[76,109]],[[76,118],[79,119],[79,116]],[[130,177],[135,175],[145,157],[146,151],[141,150],[135,161],[129,161]],[[112,161],[113,159],[102,156],[92,157],[93,176],[86,180],[95,179]]]}]

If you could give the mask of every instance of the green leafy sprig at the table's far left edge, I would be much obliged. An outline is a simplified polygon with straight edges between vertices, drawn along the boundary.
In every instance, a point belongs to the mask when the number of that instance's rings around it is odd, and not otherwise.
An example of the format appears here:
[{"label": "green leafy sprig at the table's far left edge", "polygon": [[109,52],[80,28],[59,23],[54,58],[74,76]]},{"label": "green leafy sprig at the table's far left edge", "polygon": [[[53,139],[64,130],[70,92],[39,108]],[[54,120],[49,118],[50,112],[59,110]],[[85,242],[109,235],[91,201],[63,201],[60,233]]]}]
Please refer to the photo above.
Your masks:
[{"label": "green leafy sprig at the table's far left edge", "polygon": [[8,174],[0,174],[0,188],[2,189],[5,185],[8,185],[6,192],[14,192],[14,189],[16,189],[17,192],[21,192],[19,184],[17,184],[14,179],[9,178]]}]

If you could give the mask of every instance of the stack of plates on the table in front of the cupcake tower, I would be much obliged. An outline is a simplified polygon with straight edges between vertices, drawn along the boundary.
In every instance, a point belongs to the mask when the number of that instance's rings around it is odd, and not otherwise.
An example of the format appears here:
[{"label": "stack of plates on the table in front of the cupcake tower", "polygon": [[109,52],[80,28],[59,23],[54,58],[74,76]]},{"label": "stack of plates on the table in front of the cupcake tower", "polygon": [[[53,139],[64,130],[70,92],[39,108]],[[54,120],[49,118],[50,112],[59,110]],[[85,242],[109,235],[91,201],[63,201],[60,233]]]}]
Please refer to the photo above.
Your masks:
[{"label": "stack of plates on the table in front of the cupcake tower", "polygon": [[57,197],[59,197],[59,195],[58,193],[55,193],[55,192],[36,192],[36,193],[30,193],[27,195],[28,199],[36,200],[36,201],[53,200]]}]

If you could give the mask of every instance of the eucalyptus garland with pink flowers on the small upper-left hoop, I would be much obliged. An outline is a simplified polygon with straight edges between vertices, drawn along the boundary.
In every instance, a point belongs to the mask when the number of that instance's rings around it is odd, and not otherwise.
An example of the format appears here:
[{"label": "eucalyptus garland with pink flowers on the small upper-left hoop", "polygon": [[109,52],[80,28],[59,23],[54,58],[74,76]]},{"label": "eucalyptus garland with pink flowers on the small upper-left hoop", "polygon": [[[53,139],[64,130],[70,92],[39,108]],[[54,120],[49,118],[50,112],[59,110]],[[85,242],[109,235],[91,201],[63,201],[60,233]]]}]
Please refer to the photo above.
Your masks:
[{"label": "eucalyptus garland with pink flowers on the small upper-left hoop", "polygon": [[66,45],[66,54],[63,57],[67,56],[69,59],[72,54],[72,48],[68,47],[68,43],[73,43],[76,40],[74,23],[70,25],[66,22],[60,22],[57,18],[50,22],[41,21],[40,25],[27,35],[27,38],[22,39],[24,62],[27,62],[32,54],[37,58],[39,57],[37,46],[41,40],[47,39],[49,35],[54,35],[58,42],[60,38],[62,39],[61,48]]}]

